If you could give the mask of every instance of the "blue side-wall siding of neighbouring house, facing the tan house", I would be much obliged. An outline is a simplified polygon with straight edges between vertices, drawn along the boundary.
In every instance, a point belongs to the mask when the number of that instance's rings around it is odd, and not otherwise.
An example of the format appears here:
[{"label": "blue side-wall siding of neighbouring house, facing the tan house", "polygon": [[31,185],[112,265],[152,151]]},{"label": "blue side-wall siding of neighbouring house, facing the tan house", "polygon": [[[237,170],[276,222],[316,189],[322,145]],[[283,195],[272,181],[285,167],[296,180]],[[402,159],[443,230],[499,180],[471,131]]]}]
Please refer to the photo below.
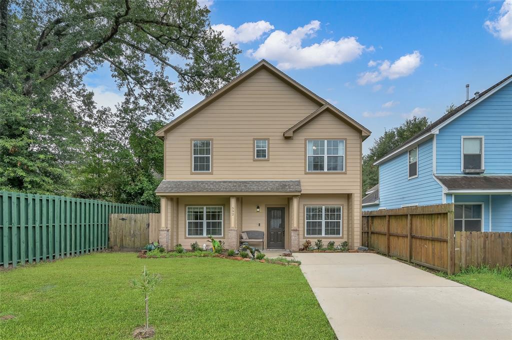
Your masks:
[{"label": "blue side-wall siding of neighbouring house, facing the tan house", "polygon": [[[408,179],[407,151],[379,167],[379,207],[392,209],[418,203],[442,203],[442,189],[432,172],[432,139],[418,147],[418,177]],[[366,209],[365,209],[366,210]]]}]

